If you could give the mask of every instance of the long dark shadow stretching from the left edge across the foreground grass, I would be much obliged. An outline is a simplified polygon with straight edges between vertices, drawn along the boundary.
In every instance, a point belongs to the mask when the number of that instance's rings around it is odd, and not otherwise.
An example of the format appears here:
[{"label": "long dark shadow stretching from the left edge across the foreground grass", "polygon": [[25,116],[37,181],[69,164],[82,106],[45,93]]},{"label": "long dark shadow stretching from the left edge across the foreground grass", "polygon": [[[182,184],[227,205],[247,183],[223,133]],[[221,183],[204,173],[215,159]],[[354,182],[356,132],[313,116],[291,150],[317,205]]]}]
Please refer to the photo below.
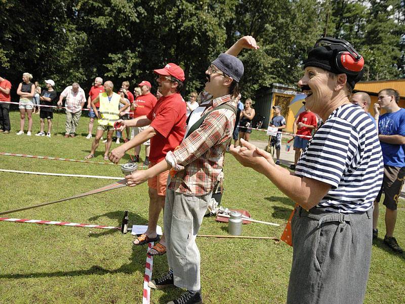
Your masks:
[{"label": "long dark shadow stretching from the left edge across the foreground grass", "polygon": [[[37,272],[27,274],[4,274],[0,275],[0,279],[32,279],[32,278],[52,278],[52,277],[77,277],[89,275],[105,275],[125,273],[132,274],[134,272],[144,273],[146,260],[146,246],[133,246],[133,251],[130,262],[121,265],[121,267],[113,270],[102,268],[99,265],[93,265],[89,269],[72,270],[72,271],[56,271],[56,272]],[[167,260],[165,258],[166,264]],[[159,263],[158,263],[159,264]]]}]

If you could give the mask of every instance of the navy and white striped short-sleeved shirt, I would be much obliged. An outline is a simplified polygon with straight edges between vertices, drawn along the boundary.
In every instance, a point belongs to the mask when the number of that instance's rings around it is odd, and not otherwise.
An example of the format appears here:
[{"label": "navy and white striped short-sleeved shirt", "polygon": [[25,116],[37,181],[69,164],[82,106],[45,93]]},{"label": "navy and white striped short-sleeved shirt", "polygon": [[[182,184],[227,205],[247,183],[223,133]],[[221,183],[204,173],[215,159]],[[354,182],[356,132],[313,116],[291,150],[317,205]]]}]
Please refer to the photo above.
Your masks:
[{"label": "navy and white striped short-sleeved shirt", "polygon": [[360,107],[345,104],[334,110],[311,138],[295,175],[332,186],[316,208],[361,213],[373,206],[383,172],[375,124]]}]

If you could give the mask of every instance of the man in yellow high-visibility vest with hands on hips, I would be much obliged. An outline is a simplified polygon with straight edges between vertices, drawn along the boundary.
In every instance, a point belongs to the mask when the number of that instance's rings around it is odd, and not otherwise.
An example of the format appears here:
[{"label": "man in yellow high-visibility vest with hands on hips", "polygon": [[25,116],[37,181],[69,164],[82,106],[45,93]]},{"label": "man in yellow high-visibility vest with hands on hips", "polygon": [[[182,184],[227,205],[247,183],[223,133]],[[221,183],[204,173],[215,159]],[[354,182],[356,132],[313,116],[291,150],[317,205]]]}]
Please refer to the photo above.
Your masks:
[{"label": "man in yellow high-visibility vest with hands on hips", "polygon": [[[92,150],[90,154],[85,157],[86,160],[94,158],[94,153],[99,145],[100,138],[103,136],[104,131],[107,131],[107,142],[105,143],[104,160],[108,161],[108,153],[111,147],[112,134],[114,133],[114,123],[120,116],[125,115],[125,109],[130,106],[130,103],[121,98],[119,94],[114,93],[112,89],[114,85],[111,81],[104,83],[104,93],[100,93],[95,99],[92,100],[91,105],[96,117],[98,118],[98,127],[96,137],[92,143]],[[100,108],[97,110],[96,103],[100,101]],[[119,103],[124,104],[119,109]]]}]

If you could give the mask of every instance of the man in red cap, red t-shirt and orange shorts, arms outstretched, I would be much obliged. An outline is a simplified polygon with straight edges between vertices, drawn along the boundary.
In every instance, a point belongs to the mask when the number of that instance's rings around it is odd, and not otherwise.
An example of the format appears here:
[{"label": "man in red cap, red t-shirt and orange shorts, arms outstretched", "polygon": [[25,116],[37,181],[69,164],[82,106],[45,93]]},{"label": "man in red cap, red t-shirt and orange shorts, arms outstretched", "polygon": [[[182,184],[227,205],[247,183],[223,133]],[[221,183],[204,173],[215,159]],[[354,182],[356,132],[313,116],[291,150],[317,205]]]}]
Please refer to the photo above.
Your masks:
[{"label": "man in red cap, red t-shirt and orange shorts, arms outstretched", "polygon": [[[156,69],[154,72],[159,75],[157,78],[158,89],[163,97],[157,100],[154,108],[146,116],[140,116],[129,121],[118,121],[124,125],[120,127],[120,130],[124,130],[126,126],[150,126],[130,141],[113,149],[109,157],[113,163],[118,163],[129,149],[150,139],[150,168],[164,160],[168,151],[173,151],[184,137],[186,103],[179,93],[185,79],[184,71],[180,66],[169,63],[164,68]],[[156,225],[160,211],[165,205],[168,175],[169,171],[166,171],[148,180],[150,199],[148,229],[145,234],[135,239],[134,245],[142,245],[159,239],[156,234]],[[164,237],[162,237],[160,244],[156,244],[153,249],[158,253],[164,253],[166,252],[165,245]]]}]

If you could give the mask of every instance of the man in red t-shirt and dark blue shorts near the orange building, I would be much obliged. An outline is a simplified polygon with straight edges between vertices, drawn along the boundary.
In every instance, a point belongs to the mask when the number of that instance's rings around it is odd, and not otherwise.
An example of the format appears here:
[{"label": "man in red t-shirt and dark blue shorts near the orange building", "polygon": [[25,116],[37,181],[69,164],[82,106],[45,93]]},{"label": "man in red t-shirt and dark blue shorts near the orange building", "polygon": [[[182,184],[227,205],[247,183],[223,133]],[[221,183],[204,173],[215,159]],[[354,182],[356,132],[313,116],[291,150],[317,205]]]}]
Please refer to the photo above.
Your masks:
[{"label": "man in red t-shirt and dark blue shorts near the orange building", "polygon": [[[302,102],[305,107],[305,101]],[[305,111],[300,113],[300,115],[295,119],[293,130],[294,130],[294,165],[290,166],[291,170],[295,170],[295,166],[301,157],[301,151],[306,148],[309,139],[311,138],[311,132],[316,128],[318,120],[316,115],[311,112],[311,110],[305,108]],[[303,136],[299,136],[303,135]]]}]

